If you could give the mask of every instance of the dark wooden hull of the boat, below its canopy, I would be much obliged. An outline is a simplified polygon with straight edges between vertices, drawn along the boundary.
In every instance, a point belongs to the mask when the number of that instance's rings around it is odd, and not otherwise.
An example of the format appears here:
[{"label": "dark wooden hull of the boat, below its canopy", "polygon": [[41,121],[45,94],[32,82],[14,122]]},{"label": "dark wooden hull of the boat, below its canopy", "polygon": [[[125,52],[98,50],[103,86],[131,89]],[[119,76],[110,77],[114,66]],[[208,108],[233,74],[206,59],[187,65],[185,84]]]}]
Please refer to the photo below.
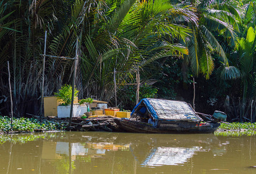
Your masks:
[{"label": "dark wooden hull of the boat, below its canopy", "polygon": [[218,122],[160,121],[156,128],[145,122],[120,118],[115,118],[115,123],[124,131],[135,133],[212,133],[220,126]]}]

